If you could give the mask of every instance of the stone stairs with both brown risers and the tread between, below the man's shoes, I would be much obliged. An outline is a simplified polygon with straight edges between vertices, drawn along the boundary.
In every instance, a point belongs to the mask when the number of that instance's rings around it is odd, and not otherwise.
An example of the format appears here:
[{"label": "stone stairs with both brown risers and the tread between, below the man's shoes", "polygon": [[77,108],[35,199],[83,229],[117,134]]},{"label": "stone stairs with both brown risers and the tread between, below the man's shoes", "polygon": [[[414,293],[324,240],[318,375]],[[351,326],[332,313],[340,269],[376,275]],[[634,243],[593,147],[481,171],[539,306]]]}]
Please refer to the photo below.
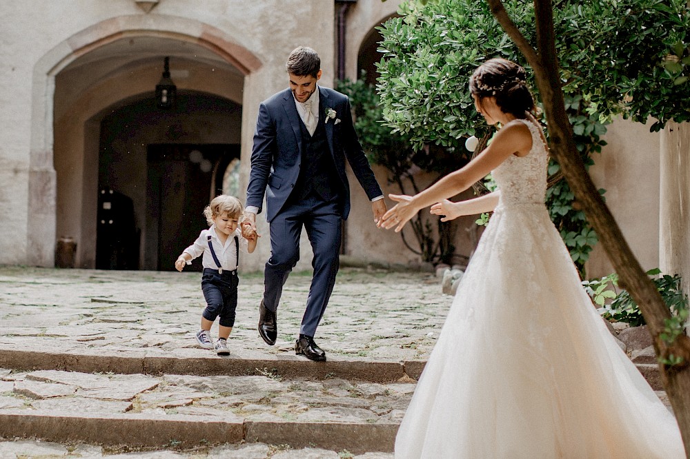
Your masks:
[{"label": "stone stairs with both brown risers and the tread between, below the man's shoes", "polygon": [[[420,363],[0,351],[0,436],[108,447],[392,452]],[[191,370],[191,371],[190,371]],[[411,377],[412,376],[412,377]]]}]

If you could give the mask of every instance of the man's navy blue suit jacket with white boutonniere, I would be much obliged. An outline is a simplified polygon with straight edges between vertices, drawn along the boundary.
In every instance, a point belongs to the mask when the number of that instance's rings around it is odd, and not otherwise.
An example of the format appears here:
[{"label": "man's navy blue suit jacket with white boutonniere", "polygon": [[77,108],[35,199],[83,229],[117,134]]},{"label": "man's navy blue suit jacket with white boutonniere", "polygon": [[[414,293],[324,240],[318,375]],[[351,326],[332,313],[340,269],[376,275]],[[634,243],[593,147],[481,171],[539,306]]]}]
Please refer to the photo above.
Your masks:
[{"label": "man's navy blue suit jacket with white boutonniere", "polygon": [[[366,155],[359,144],[353,126],[348,97],[335,90],[319,88],[319,119],[324,119],[328,109],[335,110],[335,119],[326,123],[326,137],[333,161],[344,190],[343,218],[350,212],[350,187],[345,170],[345,160],[352,167],[366,196],[373,199],[383,193]],[[335,121],[340,121],[336,123]],[[278,92],[259,105],[259,117],[254,133],[252,167],[247,188],[247,205],[262,212],[266,194],[266,221],[280,212],[295,190],[302,163],[302,132],[295,99],[289,89]],[[334,187],[335,188],[335,187]]]}]

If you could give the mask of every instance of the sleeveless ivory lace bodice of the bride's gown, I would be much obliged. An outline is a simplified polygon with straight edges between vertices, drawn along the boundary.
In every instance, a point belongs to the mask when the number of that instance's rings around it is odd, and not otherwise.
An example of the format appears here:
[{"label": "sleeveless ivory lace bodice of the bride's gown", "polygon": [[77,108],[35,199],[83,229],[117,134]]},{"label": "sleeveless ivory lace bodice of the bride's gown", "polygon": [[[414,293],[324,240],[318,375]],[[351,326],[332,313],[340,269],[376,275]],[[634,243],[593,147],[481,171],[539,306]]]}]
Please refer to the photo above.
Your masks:
[{"label": "sleeveless ivory lace bodice of the bride's gown", "polygon": [[499,205],[544,204],[549,155],[539,128],[521,119],[532,134],[532,148],[525,156],[512,154],[492,171],[501,192]]}]

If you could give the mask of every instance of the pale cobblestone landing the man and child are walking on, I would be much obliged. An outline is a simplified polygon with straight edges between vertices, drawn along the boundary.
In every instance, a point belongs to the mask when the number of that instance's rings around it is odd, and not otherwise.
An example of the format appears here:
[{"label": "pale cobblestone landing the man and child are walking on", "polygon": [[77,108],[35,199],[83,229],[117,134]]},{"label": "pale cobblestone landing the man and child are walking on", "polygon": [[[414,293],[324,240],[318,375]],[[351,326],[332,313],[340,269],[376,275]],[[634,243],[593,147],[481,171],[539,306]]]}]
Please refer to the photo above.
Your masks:
[{"label": "pale cobblestone landing the man and child are walking on", "polygon": [[[195,272],[0,267],[0,349],[208,357],[213,351],[194,339],[205,306],[200,279]],[[263,277],[241,274],[230,356],[294,356],[310,281],[309,273],[288,278],[278,340],[268,347],[256,329]],[[425,360],[450,304],[431,274],[342,269],[315,340],[329,360]]]}]

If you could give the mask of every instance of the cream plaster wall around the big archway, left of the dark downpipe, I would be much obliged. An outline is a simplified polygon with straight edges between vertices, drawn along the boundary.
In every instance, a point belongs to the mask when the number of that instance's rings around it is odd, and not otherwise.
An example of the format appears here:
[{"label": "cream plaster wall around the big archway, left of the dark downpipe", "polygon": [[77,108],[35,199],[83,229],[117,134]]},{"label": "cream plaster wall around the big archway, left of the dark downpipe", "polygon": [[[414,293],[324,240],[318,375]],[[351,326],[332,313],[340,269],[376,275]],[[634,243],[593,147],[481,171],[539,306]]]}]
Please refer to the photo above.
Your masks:
[{"label": "cream plaster wall around the big archway, left of the dark downpipe", "polygon": [[[258,104],[286,87],[284,61],[290,50],[299,44],[317,48],[324,83],[331,85],[333,79],[331,1],[207,0],[201,8],[190,0],[162,0],[148,13],[134,0],[5,2],[1,8],[0,84],[8,89],[0,95],[0,122],[11,128],[0,132],[0,228],[26,237],[0,241],[0,263],[53,263],[58,212],[53,164],[55,76],[79,57],[115,39],[141,35],[204,43],[221,59],[239,65],[246,74],[244,175],[248,175]],[[88,101],[81,103],[88,105]],[[70,142],[78,145],[81,141]],[[79,167],[70,160],[65,167],[79,176]],[[31,253],[27,247],[32,247]],[[267,245],[257,252],[254,259],[265,259]]]}]

